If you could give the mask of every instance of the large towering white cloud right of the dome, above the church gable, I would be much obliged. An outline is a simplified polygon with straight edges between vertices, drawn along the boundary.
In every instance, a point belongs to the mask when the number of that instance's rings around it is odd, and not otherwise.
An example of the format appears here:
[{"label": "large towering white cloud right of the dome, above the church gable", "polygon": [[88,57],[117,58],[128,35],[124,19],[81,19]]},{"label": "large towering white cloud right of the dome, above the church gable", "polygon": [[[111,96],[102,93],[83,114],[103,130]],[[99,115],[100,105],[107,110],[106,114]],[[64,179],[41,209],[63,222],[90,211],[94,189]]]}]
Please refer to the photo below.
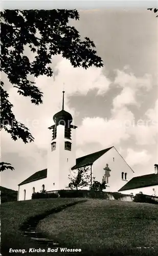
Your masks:
[{"label": "large towering white cloud right of the dome, above the church gable", "polygon": [[79,145],[99,142],[101,147],[106,147],[119,145],[122,141],[129,139],[134,139],[139,145],[156,143],[157,126],[151,122],[151,119],[156,121],[157,103],[154,109],[145,113],[150,120],[144,118],[144,120],[135,121],[134,114],[129,110],[131,104],[140,106],[138,93],[152,88],[151,76],[146,74],[144,77],[136,77],[128,73],[128,69],[127,66],[124,71],[117,70],[115,81],[110,85],[110,87],[118,85],[122,88],[121,93],[112,101],[111,117],[108,120],[101,117],[84,118],[77,131]]}]

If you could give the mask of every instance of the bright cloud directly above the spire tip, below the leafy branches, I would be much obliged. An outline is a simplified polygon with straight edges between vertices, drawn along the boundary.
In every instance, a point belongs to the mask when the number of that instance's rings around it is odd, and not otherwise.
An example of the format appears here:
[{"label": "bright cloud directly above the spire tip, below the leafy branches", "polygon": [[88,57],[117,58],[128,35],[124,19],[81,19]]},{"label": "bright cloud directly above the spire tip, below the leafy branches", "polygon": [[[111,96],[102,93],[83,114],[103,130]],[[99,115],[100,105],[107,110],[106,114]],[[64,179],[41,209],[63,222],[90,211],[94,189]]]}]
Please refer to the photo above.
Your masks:
[{"label": "bright cloud directly above the spire tip, below the leafy branches", "polygon": [[111,81],[102,73],[103,68],[91,67],[87,70],[83,68],[73,68],[70,61],[62,59],[56,66],[58,76],[55,83],[65,83],[66,93],[69,95],[76,92],[86,95],[89,91],[97,89],[98,95],[108,91]]}]

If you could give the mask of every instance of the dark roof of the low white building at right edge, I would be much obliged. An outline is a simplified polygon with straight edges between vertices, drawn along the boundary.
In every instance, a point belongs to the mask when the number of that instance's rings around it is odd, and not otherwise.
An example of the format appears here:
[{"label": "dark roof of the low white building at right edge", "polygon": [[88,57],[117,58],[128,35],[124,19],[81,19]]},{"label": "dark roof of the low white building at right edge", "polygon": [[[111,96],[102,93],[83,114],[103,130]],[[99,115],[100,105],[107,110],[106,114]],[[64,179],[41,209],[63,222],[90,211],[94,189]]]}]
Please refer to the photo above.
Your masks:
[{"label": "dark roof of the low white building at right edge", "polygon": [[118,191],[158,185],[158,175],[148,174],[132,178]]}]

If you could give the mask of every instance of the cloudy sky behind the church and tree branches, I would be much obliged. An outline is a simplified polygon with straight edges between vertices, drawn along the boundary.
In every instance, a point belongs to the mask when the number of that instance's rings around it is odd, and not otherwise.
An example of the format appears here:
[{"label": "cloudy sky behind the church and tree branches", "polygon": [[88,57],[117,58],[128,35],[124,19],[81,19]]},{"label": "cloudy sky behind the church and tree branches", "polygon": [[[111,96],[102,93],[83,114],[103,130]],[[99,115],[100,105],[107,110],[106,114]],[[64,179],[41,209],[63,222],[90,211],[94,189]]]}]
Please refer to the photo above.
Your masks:
[{"label": "cloudy sky behind the church and tree branches", "polygon": [[[2,161],[14,170],[1,175],[2,186],[17,185],[47,168],[53,115],[61,110],[63,84],[65,110],[73,116],[76,157],[115,146],[134,170],[134,176],[154,172],[158,163],[157,141],[157,19],[143,9],[79,10],[80,20],[71,20],[81,35],[95,42],[104,67],[73,68],[69,60],[54,56],[51,78],[33,78],[43,92],[43,104],[17,94],[5,74],[2,80],[14,105],[16,119],[35,138],[25,144],[1,133]],[[25,54],[33,59],[26,47]]]}]

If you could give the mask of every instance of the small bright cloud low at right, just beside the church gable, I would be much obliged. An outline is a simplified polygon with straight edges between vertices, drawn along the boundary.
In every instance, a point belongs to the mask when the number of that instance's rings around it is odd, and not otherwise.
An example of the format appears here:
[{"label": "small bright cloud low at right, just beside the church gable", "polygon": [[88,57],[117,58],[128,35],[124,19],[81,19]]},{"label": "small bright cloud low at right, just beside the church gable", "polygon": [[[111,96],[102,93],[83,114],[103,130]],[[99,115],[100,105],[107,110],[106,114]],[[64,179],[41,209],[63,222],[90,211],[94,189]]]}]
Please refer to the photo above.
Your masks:
[{"label": "small bright cloud low at right, just beside the church gable", "polygon": [[126,162],[134,167],[136,165],[146,165],[151,160],[152,156],[146,151],[134,151],[132,148],[127,149]]}]

